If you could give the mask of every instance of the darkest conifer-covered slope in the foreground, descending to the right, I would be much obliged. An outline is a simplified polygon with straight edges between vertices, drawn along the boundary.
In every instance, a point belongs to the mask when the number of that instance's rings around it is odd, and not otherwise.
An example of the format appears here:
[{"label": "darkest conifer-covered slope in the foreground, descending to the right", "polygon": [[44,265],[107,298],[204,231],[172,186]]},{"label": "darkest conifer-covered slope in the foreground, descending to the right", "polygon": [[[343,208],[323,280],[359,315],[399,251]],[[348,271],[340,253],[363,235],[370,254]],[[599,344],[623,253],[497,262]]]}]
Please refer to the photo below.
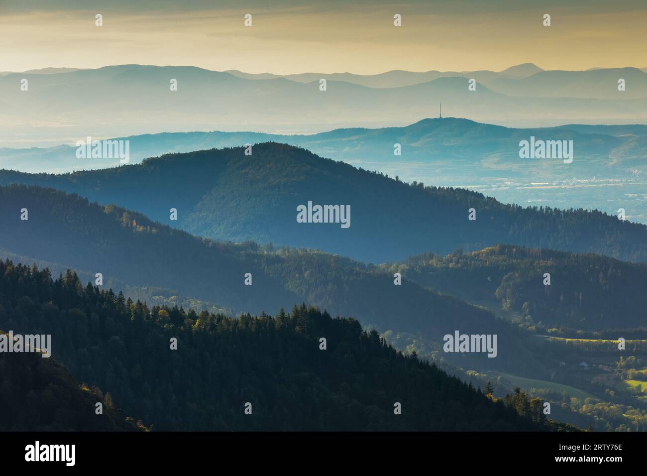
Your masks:
[{"label": "darkest conifer-covered slope in the foreground, descending to the right", "polygon": [[52,334],[52,358],[157,429],[556,428],[539,399],[493,402],[357,321],[315,308],[239,319],[148,308],[74,273],[52,280],[47,269],[7,261],[0,309],[1,328]]}]

